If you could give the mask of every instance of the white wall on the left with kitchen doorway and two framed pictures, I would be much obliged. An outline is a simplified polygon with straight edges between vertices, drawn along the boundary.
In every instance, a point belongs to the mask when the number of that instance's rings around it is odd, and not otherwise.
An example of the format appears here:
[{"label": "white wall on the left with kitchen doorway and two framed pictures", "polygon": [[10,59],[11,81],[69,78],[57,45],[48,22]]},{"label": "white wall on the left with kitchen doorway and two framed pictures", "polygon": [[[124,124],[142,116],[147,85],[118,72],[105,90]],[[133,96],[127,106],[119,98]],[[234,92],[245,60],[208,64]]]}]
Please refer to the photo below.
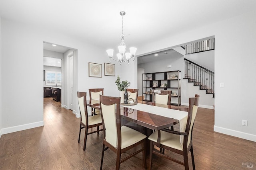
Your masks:
[{"label": "white wall on the left with kitchen doorway and two framed pictures", "polygon": [[[104,94],[119,96],[116,76],[88,77],[88,62],[108,62],[105,50],[79,37],[70,37],[44,27],[2,19],[2,134],[44,125],[43,120],[43,41],[78,49],[74,58],[74,92],[103,87]],[[28,51],[29,49],[29,51]],[[104,70],[104,69],[102,69]],[[121,72],[116,64],[116,72]],[[28,76],[28,74],[30,76]],[[31,78],[32,77],[32,78]],[[18,86],[16,82],[21,82]],[[32,86],[31,86],[32,85]],[[28,87],[30,91],[28,92]],[[114,88],[115,87],[115,88]],[[74,101],[77,102],[76,96]],[[31,102],[33,104],[31,104]],[[14,107],[15,106],[15,107]],[[76,110],[78,110],[76,105]]]}]

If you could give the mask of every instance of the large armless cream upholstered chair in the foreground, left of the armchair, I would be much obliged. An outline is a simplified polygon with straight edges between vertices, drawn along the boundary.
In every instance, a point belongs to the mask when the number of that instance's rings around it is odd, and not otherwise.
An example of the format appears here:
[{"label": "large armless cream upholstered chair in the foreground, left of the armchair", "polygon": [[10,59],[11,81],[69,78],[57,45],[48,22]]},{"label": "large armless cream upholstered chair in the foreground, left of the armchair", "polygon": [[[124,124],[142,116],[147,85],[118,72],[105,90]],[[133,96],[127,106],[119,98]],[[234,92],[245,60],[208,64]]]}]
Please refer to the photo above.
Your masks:
[{"label": "large armless cream upholstered chair in the foreground, left of the armchair", "polygon": [[[104,151],[108,148],[116,153],[116,170],[119,170],[122,162],[139,152],[142,152],[144,168],[146,169],[146,135],[130,127],[121,126],[120,99],[117,97],[100,96],[100,112],[103,124],[103,148],[100,169],[102,169]],[[121,160],[122,153],[137,145],[141,145],[142,148]]]}]

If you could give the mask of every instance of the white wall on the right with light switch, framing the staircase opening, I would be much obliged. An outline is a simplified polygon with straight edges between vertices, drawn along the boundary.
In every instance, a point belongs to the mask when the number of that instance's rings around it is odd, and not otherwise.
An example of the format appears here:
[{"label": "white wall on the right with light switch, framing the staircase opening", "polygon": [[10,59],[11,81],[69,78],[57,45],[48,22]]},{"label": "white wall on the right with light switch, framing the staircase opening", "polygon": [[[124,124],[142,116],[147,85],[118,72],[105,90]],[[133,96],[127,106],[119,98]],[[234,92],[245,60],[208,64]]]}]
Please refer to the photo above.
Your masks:
[{"label": "white wall on the right with light switch, framing the staircase opening", "polygon": [[[256,49],[252,48],[256,46],[255,30],[256,12],[252,11],[144,44],[138,47],[138,55],[215,36],[214,131],[256,141],[256,79],[252,75],[256,71]],[[242,126],[242,119],[248,120],[248,126]]]}]

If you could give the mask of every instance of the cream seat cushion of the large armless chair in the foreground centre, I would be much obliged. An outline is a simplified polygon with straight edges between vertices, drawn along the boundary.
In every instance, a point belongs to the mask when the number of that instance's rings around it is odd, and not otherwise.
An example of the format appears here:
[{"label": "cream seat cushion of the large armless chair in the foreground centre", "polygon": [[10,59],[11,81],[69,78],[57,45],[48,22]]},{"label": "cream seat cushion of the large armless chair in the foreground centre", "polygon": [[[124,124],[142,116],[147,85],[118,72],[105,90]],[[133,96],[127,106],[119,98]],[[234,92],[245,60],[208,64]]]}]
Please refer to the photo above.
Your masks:
[{"label": "cream seat cushion of the large armless chair in the foreground centre", "polygon": [[121,149],[129,147],[146,138],[146,135],[134,129],[131,129],[130,127],[127,127],[127,126],[121,127],[121,136],[122,136]]}]

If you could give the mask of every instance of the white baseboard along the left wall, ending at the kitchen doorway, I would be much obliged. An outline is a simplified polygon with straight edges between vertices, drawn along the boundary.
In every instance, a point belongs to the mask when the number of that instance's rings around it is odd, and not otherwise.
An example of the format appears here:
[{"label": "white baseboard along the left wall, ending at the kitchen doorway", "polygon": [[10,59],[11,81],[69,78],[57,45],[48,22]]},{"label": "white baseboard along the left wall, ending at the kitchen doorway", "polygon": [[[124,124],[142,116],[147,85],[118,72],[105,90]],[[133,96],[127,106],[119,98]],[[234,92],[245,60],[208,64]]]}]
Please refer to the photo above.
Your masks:
[{"label": "white baseboard along the left wall, ending at the kitchen doorway", "polygon": [[40,126],[44,126],[44,121],[38,121],[38,122],[28,123],[28,124],[24,124],[24,125],[7,127],[7,128],[1,129],[1,131],[2,131],[2,134],[4,135],[4,134],[7,134],[7,133],[23,131],[23,130],[26,130],[26,129],[32,129],[32,128],[40,127]]}]

